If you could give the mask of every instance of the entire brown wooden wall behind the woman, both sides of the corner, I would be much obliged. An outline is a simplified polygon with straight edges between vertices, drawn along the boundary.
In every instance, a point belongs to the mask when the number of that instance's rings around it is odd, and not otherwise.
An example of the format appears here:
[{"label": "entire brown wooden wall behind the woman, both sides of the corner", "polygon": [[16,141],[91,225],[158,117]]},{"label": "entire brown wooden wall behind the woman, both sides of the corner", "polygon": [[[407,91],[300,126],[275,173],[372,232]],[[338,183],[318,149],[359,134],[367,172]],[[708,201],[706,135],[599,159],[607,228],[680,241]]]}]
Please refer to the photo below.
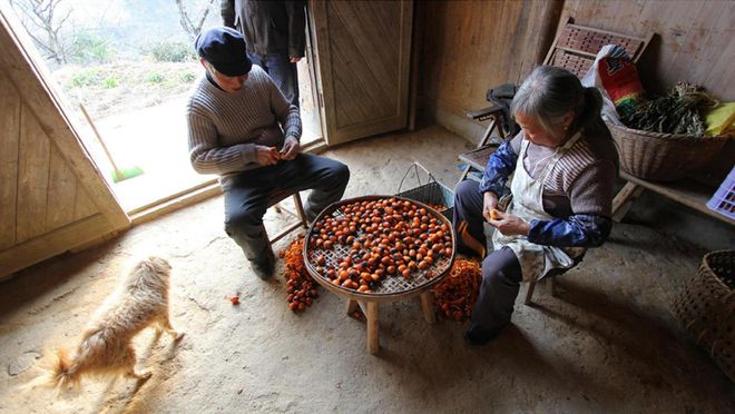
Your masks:
[{"label": "entire brown wooden wall behind the woman, both sides of the corner", "polygon": [[487,103],[488,88],[522,80],[540,63],[567,16],[610,31],[658,33],[639,62],[649,89],[688,80],[735,100],[735,1],[441,1],[423,7],[420,102],[433,121],[473,141],[483,128],[463,114]]}]

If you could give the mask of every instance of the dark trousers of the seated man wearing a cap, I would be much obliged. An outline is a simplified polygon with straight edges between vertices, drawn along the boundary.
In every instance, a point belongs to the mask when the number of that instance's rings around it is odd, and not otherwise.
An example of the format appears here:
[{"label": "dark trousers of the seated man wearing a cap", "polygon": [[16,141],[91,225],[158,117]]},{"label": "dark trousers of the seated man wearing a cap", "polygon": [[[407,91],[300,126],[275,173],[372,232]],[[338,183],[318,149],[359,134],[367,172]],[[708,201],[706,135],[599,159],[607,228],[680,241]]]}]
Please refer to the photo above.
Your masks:
[{"label": "dark trousers of the seated man wearing a cap", "polygon": [[273,194],[311,189],[304,213],[312,221],[324,207],[342,198],[349,180],[347,166],[311,154],[224,177],[225,231],[248,260],[264,260],[271,247],[263,231],[263,216]]}]

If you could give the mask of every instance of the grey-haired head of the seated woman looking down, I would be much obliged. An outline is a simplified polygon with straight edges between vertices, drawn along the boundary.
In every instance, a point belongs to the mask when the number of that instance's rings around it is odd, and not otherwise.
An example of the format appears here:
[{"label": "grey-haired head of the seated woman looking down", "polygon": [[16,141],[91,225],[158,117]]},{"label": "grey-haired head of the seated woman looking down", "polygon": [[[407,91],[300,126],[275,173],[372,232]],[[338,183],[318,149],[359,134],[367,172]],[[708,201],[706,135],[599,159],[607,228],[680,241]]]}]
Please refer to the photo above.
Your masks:
[{"label": "grey-haired head of the seated woman looking down", "polygon": [[584,88],[568,70],[540,66],[516,92],[510,110],[526,138],[547,147],[561,145],[579,128],[599,119],[602,98],[595,88]]}]

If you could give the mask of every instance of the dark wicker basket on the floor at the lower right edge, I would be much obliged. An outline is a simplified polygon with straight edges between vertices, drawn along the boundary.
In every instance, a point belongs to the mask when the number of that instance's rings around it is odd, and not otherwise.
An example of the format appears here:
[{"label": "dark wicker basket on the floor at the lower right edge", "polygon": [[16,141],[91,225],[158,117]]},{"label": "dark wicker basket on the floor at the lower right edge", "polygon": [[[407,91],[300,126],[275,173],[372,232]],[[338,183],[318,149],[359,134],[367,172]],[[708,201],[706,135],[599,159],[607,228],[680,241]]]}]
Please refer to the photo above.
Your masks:
[{"label": "dark wicker basket on the floor at the lower right edge", "polygon": [[674,302],[674,314],[735,382],[735,250],[710,252]]}]

